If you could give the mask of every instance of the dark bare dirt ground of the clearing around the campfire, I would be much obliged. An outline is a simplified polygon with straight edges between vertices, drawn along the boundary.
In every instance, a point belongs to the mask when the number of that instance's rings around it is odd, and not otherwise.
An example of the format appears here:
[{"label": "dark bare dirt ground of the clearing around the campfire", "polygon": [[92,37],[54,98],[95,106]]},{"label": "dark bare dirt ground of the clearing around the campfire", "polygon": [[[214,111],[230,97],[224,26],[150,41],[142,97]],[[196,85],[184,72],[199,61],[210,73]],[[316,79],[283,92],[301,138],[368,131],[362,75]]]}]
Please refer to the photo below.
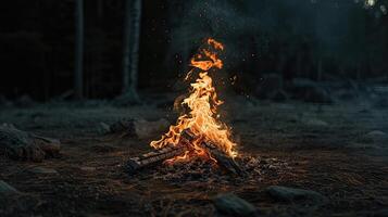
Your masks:
[{"label": "dark bare dirt ground of the clearing around the campfire", "polygon": [[[270,166],[249,179],[222,175],[210,181],[200,174],[179,181],[170,177],[174,168],[164,171],[163,165],[135,175],[125,170],[126,159],[150,151],[159,133],[139,139],[98,132],[101,122],[121,118],[174,122],[170,101],[151,103],[154,99],[132,107],[87,102],[1,108],[0,123],[62,142],[61,157],[43,163],[0,157],[0,180],[37,201],[8,205],[10,215],[214,216],[220,214],[213,197],[226,192],[253,204],[261,216],[387,214],[388,108],[227,99],[221,115],[233,127],[239,153]],[[57,173],[33,173],[35,167]],[[328,202],[277,202],[264,192],[274,184],[313,190]]]}]

